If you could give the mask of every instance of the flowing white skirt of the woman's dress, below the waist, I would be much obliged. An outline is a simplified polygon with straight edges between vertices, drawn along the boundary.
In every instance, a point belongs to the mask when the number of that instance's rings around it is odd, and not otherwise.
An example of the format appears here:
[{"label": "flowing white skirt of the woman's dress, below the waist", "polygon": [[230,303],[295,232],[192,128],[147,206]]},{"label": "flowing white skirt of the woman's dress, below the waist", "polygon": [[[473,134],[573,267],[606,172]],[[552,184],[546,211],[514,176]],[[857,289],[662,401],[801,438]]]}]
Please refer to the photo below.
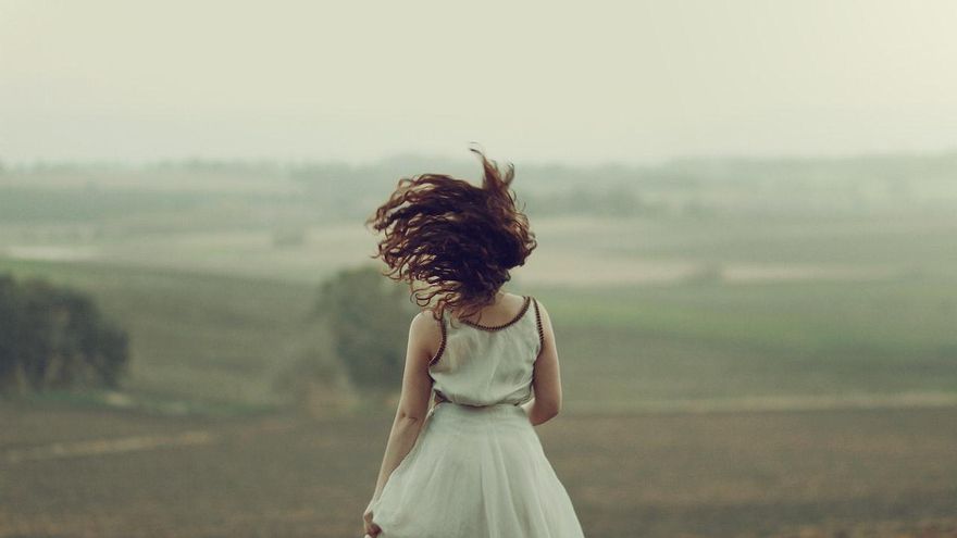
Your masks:
[{"label": "flowing white skirt of the woman's dress, below the waist", "polygon": [[373,504],[380,538],[583,538],[522,408],[437,404]]}]

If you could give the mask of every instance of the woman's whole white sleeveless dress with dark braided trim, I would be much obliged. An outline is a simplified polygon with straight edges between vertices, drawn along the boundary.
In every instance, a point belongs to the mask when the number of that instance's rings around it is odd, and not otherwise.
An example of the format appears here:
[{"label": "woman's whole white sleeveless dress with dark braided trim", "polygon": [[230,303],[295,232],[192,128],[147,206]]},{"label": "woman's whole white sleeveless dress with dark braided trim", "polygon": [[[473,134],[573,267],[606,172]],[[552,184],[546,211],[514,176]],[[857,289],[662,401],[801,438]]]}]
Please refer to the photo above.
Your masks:
[{"label": "woman's whole white sleeveless dress with dark braided trim", "polygon": [[380,538],[584,537],[519,406],[532,398],[544,342],[538,302],[523,297],[520,313],[497,327],[443,315],[428,367],[436,403],[373,503]]}]

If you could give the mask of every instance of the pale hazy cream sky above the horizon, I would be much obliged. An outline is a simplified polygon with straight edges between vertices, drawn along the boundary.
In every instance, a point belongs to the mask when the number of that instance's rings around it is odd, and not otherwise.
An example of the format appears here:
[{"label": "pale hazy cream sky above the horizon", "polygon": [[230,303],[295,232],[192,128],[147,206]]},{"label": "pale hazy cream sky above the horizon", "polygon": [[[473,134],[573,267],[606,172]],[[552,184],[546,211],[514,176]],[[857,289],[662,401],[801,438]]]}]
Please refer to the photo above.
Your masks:
[{"label": "pale hazy cream sky above the horizon", "polygon": [[0,0],[0,161],[957,149],[957,1]]}]

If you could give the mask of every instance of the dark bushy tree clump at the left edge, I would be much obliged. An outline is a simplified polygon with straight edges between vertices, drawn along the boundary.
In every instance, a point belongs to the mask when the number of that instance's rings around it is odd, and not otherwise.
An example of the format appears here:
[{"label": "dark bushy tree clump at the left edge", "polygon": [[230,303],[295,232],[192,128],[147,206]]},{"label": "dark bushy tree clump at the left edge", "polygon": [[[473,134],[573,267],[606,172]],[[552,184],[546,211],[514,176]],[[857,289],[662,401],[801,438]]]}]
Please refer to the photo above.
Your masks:
[{"label": "dark bushy tree clump at the left edge", "polygon": [[128,337],[84,293],[0,275],[0,390],[116,387]]}]

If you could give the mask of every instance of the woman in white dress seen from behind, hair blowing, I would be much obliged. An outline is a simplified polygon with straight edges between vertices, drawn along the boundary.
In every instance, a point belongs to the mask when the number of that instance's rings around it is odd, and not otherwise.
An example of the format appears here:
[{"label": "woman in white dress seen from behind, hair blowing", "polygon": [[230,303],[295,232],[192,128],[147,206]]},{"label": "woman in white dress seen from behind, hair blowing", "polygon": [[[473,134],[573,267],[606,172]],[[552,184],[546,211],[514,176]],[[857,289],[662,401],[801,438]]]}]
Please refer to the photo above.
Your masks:
[{"label": "woman in white dress seen from behind, hair blowing", "polygon": [[366,222],[385,234],[373,258],[388,265],[386,276],[408,281],[420,306],[437,299],[409,328],[402,392],[364,530],[580,538],[533,428],[561,409],[551,321],[535,298],[501,289],[537,242],[510,190],[514,167],[502,176],[472,151],[484,168],[481,188],[438,174],[403,178]]}]

